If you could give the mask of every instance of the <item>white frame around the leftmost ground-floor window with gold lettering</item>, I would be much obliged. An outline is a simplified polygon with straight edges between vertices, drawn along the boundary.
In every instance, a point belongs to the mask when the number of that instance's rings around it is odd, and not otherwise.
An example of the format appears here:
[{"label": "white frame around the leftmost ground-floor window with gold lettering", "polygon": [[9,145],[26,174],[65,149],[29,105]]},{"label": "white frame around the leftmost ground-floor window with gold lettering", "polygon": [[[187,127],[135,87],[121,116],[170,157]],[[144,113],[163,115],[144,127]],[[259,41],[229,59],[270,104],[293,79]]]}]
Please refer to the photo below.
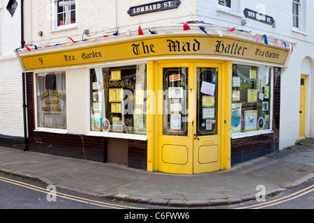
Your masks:
[{"label": "white frame around the leftmost ground-floor window with gold lettering", "polygon": [[[42,72],[64,72],[66,74],[66,70],[43,70],[38,72],[33,72],[33,98],[34,98],[34,114],[35,114],[35,130],[34,132],[51,132],[51,133],[59,133],[59,134],[67,134],[68,133],[68,118],[66,118],[66,129],[58,129],[58,128],[43,128],[38,127],[38,102],[37,102],[37,74]],[[66,83],[68,82],[68,75],[66,74]],[[66,95],[68,95],[68,88],[66,84]],[[68,100],[66,100],[66,117],[68,117]]]}]

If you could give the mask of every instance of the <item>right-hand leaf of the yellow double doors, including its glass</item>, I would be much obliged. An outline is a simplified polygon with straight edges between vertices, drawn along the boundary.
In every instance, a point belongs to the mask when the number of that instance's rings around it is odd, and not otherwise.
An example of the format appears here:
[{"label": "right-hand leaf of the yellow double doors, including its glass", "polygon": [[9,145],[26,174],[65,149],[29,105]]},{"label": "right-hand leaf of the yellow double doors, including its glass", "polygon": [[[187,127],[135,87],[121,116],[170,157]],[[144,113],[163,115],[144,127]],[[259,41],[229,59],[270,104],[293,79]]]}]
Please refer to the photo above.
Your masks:
[{"label": "right-hand leaf of the yellow double doors, including its glass", "polygon": [[195,64],[196,126],[193,172],[200,174],[220,169],[220,66]]}]

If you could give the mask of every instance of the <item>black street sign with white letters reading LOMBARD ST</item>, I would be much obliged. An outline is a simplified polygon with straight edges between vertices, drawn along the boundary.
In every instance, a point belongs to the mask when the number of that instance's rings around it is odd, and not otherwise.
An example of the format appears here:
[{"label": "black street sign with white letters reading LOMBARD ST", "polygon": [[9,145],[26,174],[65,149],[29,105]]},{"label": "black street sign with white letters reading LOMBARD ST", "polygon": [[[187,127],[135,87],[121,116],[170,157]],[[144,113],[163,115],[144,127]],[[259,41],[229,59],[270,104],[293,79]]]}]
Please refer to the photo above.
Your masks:
[{"label": "black street sign with white letters reading LOMBARD ST", "polygon": [[179,0],[172,1],[156,1],[153,3],[143,4],[140,6],[132,6],[128,10],[128,15],[142,15],[146,13],[154,13],[161,10],[168,10],[172,8],[178,8],[181,4]]}]

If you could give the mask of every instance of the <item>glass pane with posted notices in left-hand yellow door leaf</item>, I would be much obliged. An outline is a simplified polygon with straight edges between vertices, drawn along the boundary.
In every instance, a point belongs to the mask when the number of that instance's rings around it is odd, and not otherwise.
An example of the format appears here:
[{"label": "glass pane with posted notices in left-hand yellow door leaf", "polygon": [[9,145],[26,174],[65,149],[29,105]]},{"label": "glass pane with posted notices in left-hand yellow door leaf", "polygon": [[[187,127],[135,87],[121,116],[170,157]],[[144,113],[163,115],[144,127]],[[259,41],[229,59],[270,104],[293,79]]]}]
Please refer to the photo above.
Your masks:
[{"label": "glass pane with posted notices in left-hand yellow door leaf", "polygon": [[188,68],[163,68],[163,135],[188,136]]}]

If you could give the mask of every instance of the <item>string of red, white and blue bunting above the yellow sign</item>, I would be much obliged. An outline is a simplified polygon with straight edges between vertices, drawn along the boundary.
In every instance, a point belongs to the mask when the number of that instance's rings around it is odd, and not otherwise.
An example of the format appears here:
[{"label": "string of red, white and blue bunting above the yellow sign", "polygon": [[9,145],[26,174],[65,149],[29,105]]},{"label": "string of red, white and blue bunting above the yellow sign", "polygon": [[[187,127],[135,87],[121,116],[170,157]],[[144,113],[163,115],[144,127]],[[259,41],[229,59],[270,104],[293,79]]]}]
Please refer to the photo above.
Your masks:
[{"label": "string of red, white and blue bunting above the yellow sign", "polygon": [[[200,30],[201,30],[202,32],[206,33],[208,36],[211,36],[211,35],[208,33],[208,31],[206,30],[206,28],[205,28],[204,26],[199,26],[199,28],[200,28]],[[260,38],[261,38],[261,35],[260,35],[260,34],[253,33],[252,31],[246,31],[246,30],[243,30],[243,29],[236,29],[236,28],[237,28],[237,26],[234,26],[234,27],[232,27],[231,29],[227,29],[227,31],[228,31],[228,32],[239,31],[239,32],[251,33],[253,36],[256,37],[256,43],[260,42]],[[187,22],[184,22],[184,24],[183,24],[183,30],[184,30],[184,31],[190,30],[190,26],[188,26],[188,23],[187,23]],[[216,29],[215,31],[216,31],[216,33],[218,33],[218,35],[219,35],[220,37],[223,37],[223,33],[222,33],[221,30]],[[141,27],[141,26],[138,27],[138,31],[137,31],[137,32],[138,32],[138,35],[139,35],[139,36],[143,36],[143,35],[144,35],[144,32],[142,31],[142,27]],[[151,31],[151,29],[149,29],[149,33],[151,33],[151,35],[158,34],[156,31]],[[118,31],[118,30],[115,31],[114,33],[112,33],[112,36],[118,36],[118,35],[119,35],[119,31]],[[128,34],[128,35],[129,35],[129,34]],[[105,38],[105,37],[108,37],[108,35],[107,35],[107,34],[103,35],[103,38]],[[264,38],[264,43],[265,43],[266,45],[269,45],[268,39],[267,39],[267,35],[264,34],[264,35],[262,35],[262,37]],[[71,40],[72,43],[77,43],[77,42],[78,42],[78,41],[73,40],[73,38],[70,38],[70,37],[68,37],[68,39]],[[87,41],[87,39],[84,38],[84,33],[83,33],[83,35],[82,35],[82,41]],[[277,39],[277,43],[281,46],[281,48],[285,48],[285,49],[286,49],[286,52],[287,52],[287,43],[285,43],[284,41],[281,41],[281,40],[279,40],[279,39]],[[58,46],[58,45],[60,45],[60,44],[56,44],[56,45],[54,45],[54,46]],[[292,54],[292,52],[293,52],[293,50],[294,50],[294,49],[293,49],[293,44],[292,44],[292,43],[289,43],[289,45],[290,45],[290,49],[291,49],[290,54]],[[36,45],[30,45],[30,47],[29,47],[29,46],[25,46],[25,48],[26,48],[29,52],[31,51],[31,47],[34,47],[35,49],[38,49],[38,47],[37,47]],[[52,46],[51,46],[51,45],[46,45],[45,47],[52,47]],[[15,49],[15,51],[17,52],[19,49],[21,49],[21,47]]]}]

